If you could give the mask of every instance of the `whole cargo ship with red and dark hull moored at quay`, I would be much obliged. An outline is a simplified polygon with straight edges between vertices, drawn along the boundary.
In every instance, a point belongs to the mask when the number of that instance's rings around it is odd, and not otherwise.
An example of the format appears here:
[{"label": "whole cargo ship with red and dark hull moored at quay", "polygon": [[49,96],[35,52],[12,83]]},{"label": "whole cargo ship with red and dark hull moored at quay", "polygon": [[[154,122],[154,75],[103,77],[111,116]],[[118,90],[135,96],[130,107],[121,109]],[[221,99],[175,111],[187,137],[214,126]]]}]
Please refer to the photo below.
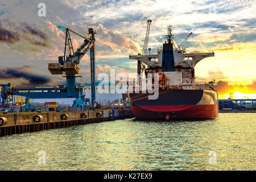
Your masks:
[{"label": "whole cargo ship with red and dark hull moored at quay", "polygon": [[150,53],[129,55],[129,59],[138,60],[137,71],[141,77],[144,75],[144,78],[147,78],[149,73],[158,74],[158,88],[154,88],[156,86],[154,79],[151,88],[159,90],[155,100],[148,98],[152,93],[147,89],[143,90],[142,86],[139,86],[138,92],[135,92],[134,86],[127,93],[134,117],[138,119],[216,118],[218,94],[215,80],[204,84],[195,83],[195,65],[206,57],[214,56],[214,52],[186,53],[185,48],[177,46],[173,40],[171,25],[167,27],[166,36],[166,42],[157,49],[155,55]]}]

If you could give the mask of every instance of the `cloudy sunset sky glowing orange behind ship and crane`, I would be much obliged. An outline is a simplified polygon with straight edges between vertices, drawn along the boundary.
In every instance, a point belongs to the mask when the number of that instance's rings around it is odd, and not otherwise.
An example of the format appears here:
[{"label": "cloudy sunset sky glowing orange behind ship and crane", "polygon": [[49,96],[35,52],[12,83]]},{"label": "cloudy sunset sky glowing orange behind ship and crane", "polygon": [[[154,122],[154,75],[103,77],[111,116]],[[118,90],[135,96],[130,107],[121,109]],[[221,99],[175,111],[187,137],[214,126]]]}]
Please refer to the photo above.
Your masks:
[{"label": "cloudy sunset sky glowing orange behind ship and crane", "polygon": [[[46,16],[38,16],[45,3]],[[65,28],[96,34],[98,73],[137,72],[137,55],[143,47],[147,19],[152,19],[148,47],[162,46],[166,27],[172,24],[174,40],[187,52],[214,52],[195,67],[196,82],[215,79],[219,94],[256,94],[255,1],[90,1],[0,0],[0,83],[46,86],[65,83],[49,73],[48,63],[64,55]],[[83,40],[71,34],[76,48]],[[90,82],[89,54],[80,61],[80,73]]]}]

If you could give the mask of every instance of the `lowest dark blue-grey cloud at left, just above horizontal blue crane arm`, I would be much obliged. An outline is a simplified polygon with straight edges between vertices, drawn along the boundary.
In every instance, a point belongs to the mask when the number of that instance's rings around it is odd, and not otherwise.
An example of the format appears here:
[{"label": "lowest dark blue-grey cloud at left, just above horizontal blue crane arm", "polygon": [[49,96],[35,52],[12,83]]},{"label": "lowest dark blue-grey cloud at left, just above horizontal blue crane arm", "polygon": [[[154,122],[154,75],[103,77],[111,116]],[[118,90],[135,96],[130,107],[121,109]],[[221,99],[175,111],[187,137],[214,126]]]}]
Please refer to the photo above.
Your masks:
[{"label": "lowest dark blue-grey cloud at left, just above horizontal blue crane arm", "polygon": [[27,82],[24,85],[46,85],[51,79],[45,76],[36,75],[27,71],[26,69],[31,67],[19,67],[19,68],[2,68],[0,69],[0,79],[9,80],[23,78]]}]

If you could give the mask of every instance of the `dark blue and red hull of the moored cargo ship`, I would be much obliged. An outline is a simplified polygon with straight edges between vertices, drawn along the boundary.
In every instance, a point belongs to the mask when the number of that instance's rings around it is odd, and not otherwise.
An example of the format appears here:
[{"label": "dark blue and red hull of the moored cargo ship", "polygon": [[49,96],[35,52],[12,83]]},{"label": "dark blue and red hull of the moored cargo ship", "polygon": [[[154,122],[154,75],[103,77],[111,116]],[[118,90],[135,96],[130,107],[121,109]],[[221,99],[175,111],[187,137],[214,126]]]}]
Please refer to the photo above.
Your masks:
[{"label": "dark blue and red hull of the moored cargo ship", "polygon": [[129,93],[137,119],[213,119],[218,116],[218,95],[213,90],[170,90],[148,100],[143,93]]}]

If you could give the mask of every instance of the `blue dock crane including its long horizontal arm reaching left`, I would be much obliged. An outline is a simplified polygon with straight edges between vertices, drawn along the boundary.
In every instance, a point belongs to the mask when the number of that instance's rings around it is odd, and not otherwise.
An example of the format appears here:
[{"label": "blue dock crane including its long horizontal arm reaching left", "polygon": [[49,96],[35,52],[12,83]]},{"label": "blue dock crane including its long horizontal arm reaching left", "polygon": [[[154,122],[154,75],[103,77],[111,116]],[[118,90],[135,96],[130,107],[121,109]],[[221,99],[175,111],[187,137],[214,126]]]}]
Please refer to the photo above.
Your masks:
[{"label": "blue dock crane including its long horizontal arm reaching left", "polygon": [[[73,51],[72,40],[69,32],[73,32],[84,38],[84,43]],[[65,50],[64,56],[59,56],[59,63],[49,63],[48,70],[52,75],[63,75],[67,78],[67,85],[42,87],[42,88],[15,88],[11,84],[1,84],[1,98],[0,102],[5,108],[5,103],[13,100],[13,96],[23,96],[26,98],[76,98],[73,106],[85,106],[90,100],[85,98],[84,82],[81,86],[76,86],[76,77],[79,76],[79,63],[82,57],[90,50],[90,77],[91,77],[91,92],[92,98],[90,105],[94,108],[94,101],[96,99],[95,89],[95,34],[93,28],[88,29],[86,36],[77,34],[69,28],[66,28],[65,36]],[[82,80],[82,79],[81,79]],[[37,90],[38,92],[31,92]]]}]

